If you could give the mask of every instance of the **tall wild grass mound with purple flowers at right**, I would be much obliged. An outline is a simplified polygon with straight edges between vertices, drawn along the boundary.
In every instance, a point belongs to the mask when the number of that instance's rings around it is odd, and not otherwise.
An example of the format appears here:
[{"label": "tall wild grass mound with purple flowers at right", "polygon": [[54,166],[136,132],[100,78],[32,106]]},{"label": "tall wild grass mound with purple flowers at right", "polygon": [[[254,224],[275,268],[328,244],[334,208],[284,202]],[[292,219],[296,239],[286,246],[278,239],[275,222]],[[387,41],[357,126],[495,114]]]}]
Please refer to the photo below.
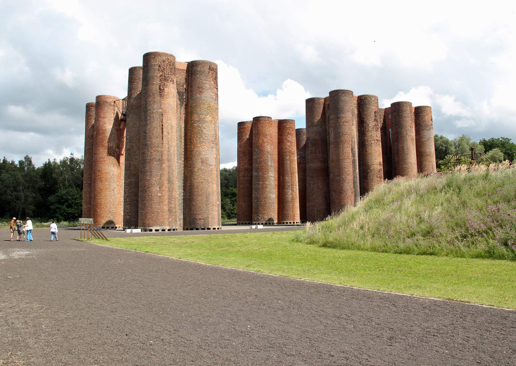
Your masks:
[{"label": "tall wild grass mound with purple flowers at right", "polygon": [[516,260],[516,169],[463,167],[397,178],[355,208],[307,225],[297,240],[323,247]]}]

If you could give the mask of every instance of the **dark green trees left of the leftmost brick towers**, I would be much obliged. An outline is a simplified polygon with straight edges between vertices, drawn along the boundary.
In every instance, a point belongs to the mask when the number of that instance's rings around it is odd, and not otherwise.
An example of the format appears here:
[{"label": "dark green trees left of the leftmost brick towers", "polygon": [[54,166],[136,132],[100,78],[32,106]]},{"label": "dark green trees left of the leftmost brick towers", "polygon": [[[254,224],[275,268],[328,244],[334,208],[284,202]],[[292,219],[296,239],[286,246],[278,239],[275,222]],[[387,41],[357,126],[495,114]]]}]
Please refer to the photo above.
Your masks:
[{"label": "dark green trees left of the leftmost brick towers", "polygon": [[[70,154],[59,162],[48,160],[37,168],[28,155],[18,163],[4,157],[0,163],[0,217],[76,220],[82,211],[82,198],[76,199],[77,195],[82,197],[82,185],[82,157]],[[62,194],[56,196],[59,193]],[[70,201],[62,201],[64,197]],[[65,211],[56,211],[59,208]]]}]

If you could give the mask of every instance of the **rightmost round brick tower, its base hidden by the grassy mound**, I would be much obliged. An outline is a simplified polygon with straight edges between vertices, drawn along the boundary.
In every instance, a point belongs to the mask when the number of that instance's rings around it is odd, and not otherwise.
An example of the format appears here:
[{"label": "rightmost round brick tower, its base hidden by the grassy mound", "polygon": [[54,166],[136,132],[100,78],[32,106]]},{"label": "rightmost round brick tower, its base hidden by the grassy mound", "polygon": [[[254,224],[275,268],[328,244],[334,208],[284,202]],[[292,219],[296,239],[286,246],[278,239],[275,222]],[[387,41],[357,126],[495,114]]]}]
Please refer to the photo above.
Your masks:
[{"label": "rightmost round brick tower, its base hidden by the grassy mound", "polygon": [[414,108],[417,172],[437,172],[436,147],[433,142],[432,108],[426,105]]}]

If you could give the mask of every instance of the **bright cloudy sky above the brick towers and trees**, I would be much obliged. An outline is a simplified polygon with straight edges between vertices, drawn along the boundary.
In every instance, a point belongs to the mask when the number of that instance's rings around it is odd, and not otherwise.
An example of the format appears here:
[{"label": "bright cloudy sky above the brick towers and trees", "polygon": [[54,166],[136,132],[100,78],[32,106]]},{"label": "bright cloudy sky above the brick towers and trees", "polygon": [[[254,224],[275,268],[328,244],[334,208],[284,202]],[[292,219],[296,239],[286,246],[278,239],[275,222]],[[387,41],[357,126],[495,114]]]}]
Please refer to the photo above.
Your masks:
[{"label": "bright cloudy sky above the brick towers and trees", "polygon": [[148,51],[218,63],[223,166],[238,121],[304,127],[304,100],[337,88],[431,105],[448,137],[516,140],[516,6],[346,3],[0,0],[0,156],[82,155],[85,104],[125,97]]}]

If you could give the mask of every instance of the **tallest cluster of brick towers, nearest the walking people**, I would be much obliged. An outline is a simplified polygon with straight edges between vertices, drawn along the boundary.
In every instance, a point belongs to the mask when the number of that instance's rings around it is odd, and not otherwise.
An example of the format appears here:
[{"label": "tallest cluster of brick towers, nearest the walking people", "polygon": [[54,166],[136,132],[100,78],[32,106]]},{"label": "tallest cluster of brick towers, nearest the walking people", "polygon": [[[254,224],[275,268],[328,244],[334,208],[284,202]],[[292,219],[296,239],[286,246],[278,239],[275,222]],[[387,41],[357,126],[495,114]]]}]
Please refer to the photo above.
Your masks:
[{"label": "tallest cluster of brick towers, nearest the walking people", "polygon": [[127,97],[86,104],[83,217],[143,231],[221,228],[218,72],[149,52]]}]

